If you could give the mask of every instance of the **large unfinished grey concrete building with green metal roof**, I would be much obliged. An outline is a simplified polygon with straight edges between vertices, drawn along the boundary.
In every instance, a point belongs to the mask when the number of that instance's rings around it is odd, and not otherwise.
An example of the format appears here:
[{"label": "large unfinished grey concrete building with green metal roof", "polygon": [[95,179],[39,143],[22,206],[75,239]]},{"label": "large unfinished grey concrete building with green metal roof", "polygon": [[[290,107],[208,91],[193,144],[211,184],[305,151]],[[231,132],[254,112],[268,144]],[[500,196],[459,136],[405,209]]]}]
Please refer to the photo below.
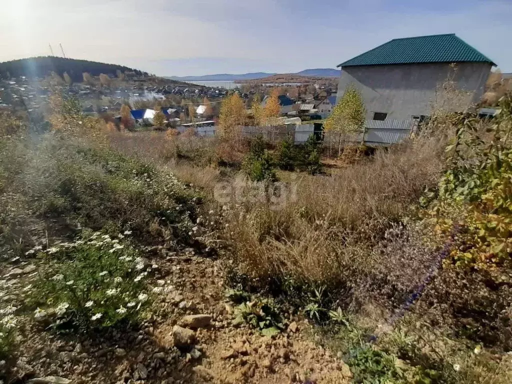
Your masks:
[{"label": "large unfinished grey concrete building with green metal roof", "polygon": [[[337,101],[354,84],[368,120],[422,120],[440,104],[463,110],[478,102],[494,65],[455,34],[393,39],[338,66]],[[449,77],[457,100],[443,89]]]}]

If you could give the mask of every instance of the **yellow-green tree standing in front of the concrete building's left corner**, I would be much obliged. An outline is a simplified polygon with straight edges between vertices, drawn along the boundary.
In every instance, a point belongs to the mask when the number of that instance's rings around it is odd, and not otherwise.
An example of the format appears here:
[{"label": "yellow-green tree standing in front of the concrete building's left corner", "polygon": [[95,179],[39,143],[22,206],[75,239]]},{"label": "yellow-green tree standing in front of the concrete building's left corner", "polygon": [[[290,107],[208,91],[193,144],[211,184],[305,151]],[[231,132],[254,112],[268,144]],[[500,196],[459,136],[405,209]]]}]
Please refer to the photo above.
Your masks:
[{"label": "yellow-green tree standing in front of the concrete building's left corner", "polygon": [[361,93],[350,84],[331,115],[324,123],[326,132],[338,136],[338,156],[342,151],[342,141],[347,134],[360,131],[365,125],[366,108]]}]

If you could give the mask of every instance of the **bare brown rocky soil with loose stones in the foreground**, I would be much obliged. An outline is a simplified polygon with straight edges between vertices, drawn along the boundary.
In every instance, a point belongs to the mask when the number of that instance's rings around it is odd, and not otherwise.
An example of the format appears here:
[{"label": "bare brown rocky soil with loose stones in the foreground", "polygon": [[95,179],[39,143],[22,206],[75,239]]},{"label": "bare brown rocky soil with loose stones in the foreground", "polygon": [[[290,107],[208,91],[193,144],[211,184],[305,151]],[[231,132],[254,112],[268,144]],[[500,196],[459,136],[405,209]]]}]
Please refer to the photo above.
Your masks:
[{"label": "bare brown rocky soil with loose stones in the foreground", "polygon": [[[349,367],[314,343],[303,319],[290,315],[288,329],[273,338],[247,325],[233,326],[218,261],[191,249],[148,259],[159,264],[155,278],[165,289],[140,330],[57,335],[27,319],[20,326],[21,348],[10,382],[350,382]],[[33,260],[4,269],[13,305],[35,273]]]}]

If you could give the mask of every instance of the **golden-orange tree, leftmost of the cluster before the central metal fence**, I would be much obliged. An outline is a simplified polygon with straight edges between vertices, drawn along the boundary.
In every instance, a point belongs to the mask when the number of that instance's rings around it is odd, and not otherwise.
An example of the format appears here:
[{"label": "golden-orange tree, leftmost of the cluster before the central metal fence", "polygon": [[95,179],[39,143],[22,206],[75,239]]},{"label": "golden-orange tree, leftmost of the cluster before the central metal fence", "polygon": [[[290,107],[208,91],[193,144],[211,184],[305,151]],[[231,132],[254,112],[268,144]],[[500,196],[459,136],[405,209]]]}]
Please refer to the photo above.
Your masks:
[{"label": "golden-orange tree, leftmost of the cluster before the central metal fence", "polygon": [[222,100],[219,115],[219,137],[224,140],[237,139],[240,127],[245,124],[247,113],[244,100],[238,93]]}]

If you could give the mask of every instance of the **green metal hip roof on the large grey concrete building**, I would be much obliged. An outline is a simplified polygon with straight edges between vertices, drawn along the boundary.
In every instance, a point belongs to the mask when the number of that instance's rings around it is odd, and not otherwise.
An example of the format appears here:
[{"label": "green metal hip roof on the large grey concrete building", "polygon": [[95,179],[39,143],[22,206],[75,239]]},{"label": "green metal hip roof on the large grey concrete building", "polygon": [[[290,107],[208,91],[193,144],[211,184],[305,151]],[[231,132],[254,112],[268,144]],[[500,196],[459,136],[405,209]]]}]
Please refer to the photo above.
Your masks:
[{"label": "green metal hip roof on the large grey concrete building", "polygon": [[451,33],[393,39],[342,62],[338,67],[463,61],[488,62],[496,65],[455,33]]}]

